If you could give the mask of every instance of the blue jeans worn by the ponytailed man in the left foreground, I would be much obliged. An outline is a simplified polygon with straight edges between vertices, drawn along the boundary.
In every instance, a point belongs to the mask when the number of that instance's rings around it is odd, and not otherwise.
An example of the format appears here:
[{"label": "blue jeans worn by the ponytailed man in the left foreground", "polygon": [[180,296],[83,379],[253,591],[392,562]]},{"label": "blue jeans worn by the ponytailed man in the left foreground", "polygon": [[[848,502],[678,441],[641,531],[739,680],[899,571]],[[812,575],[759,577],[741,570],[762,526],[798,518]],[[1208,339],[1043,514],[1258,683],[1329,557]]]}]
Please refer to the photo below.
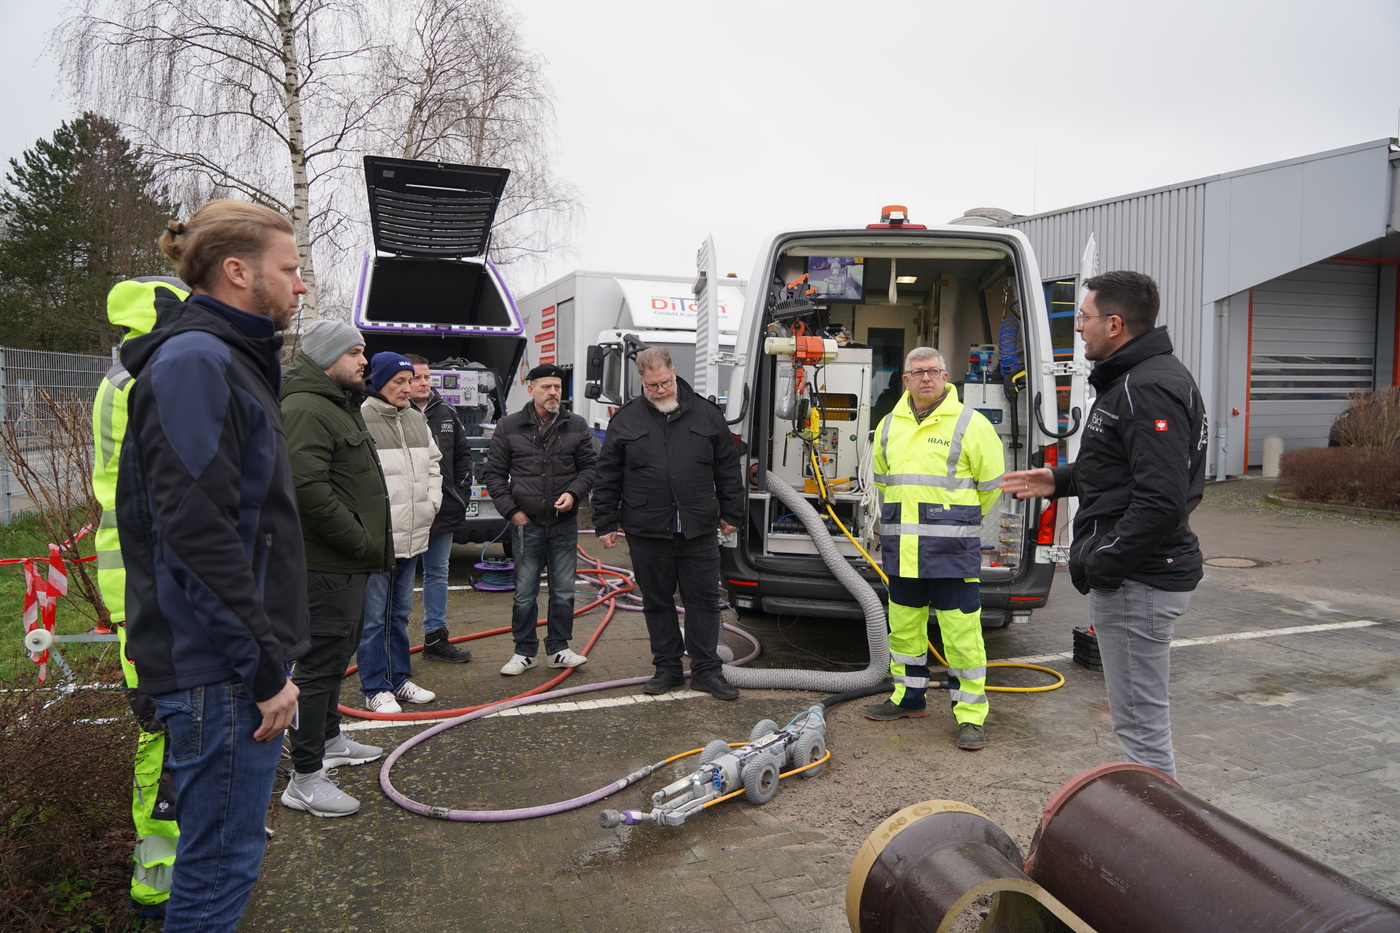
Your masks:
[{"label": "blue jeans worn by the ponytailed man in the left foreground", "polygon": [[230,933],[258,881],[281,735],[253,740],[262,713],[242,681],[153,696],[169,730],[179,846],[165,906],[171,933]]}]

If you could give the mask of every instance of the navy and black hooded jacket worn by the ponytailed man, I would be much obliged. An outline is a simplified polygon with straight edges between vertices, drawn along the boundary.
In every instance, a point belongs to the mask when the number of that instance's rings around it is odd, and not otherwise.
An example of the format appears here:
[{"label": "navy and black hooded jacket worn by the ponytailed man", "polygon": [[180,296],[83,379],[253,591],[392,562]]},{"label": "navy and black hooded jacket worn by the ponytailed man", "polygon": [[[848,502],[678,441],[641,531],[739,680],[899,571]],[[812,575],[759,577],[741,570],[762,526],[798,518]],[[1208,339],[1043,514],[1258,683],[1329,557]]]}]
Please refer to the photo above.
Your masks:
[{"label": "navy and black hooded jacket worn by the ponytailed man", "polygon": [[127,653],[143,693],[238,678],[274,696],[307,651],[307,560],[267,318],[157,298],[118,466]]}]

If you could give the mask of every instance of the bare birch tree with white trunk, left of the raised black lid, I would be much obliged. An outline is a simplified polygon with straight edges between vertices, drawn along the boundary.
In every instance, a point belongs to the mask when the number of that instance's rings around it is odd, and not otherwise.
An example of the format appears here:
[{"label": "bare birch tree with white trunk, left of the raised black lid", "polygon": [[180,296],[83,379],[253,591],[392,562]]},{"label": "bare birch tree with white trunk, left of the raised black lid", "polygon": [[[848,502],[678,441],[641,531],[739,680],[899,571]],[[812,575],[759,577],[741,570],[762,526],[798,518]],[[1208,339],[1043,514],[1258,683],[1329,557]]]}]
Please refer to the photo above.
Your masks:
[{"label": "bare birch tree with white trunk, left of the raised black lid", "polygon": [[235,192],[291,217],[315,317],[312,245],[344,223],[318,189],[377,105],[353,67],[374,50],[358,27],[354,0],[78,0],[56,46],[78,98],[188,200]]}]

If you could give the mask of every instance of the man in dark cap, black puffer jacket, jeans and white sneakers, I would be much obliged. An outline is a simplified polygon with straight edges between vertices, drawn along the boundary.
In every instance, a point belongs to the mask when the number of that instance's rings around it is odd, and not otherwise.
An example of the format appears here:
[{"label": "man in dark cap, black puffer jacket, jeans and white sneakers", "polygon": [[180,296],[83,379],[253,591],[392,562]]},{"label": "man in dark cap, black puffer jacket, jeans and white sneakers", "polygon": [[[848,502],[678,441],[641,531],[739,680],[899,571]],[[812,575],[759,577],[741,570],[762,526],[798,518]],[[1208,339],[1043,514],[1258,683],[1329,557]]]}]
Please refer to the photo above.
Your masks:
[{"label": "man in dark cap, black puffer jacket, jeans and white sneakers", "polygon": [[588,661],[568,647],[574,636],[574,572],[578,567],[578,502],[594,488],[598,459],[588,423],[563,410],[564,371],[536,366],[525,377],[531,401],[496,426],[486,457],[486,489],[515,535],[515,604],[511,633],[515,654],[501,668],[514,677],[535,667],[540,566],[549,567],[549,625],[545,654],[550,667]]}]

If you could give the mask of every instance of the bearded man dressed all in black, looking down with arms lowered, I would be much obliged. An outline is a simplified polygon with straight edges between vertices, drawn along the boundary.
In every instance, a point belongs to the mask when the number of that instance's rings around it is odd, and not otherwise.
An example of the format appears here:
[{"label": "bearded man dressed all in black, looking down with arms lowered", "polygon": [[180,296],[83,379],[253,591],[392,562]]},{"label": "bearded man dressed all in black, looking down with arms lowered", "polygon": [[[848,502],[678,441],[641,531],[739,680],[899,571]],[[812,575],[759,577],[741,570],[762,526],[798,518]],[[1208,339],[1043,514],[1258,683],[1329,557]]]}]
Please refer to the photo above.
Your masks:
[{"label": "bearded man dressed all in black, looking down with arms lowered", "polygon": [[[743,483],[724,413],[676,375],[671,353],[637,354],[645,398],[613,415],[598,458],[594,524],[605,548],[619,524],[641,587],[655,677],[643,688],[680,686],[680,657],[690,654],[690,686],[738,699],[720,661],[720,542],[743,517]],[[682,642],[675,593],[686,607]]]}]

